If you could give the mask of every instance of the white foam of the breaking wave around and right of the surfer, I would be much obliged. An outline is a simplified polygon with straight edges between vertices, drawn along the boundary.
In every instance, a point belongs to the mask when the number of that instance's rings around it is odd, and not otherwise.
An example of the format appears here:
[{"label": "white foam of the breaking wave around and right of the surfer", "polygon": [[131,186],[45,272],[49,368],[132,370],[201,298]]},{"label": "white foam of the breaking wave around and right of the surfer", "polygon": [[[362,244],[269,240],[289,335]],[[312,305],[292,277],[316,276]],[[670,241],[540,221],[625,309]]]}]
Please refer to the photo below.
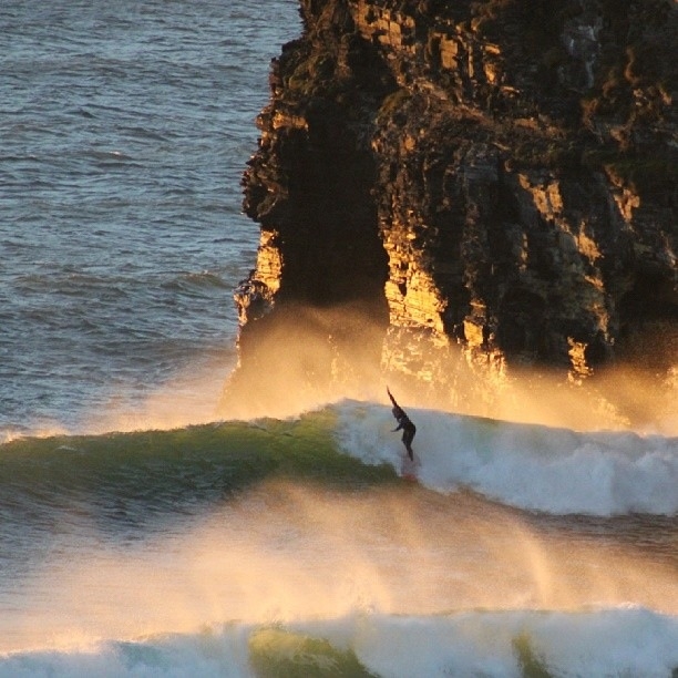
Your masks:
[{"label": "white foam of the breaking wave around and right of the surfer", "polygon": [[[341,449],[400,469],[403,446],[390,409],[337,405]],[[617,515],[678,512],[678,438],[581,433],[433,410],[409,409],[424,485],[470,487],[530,511]]]}]

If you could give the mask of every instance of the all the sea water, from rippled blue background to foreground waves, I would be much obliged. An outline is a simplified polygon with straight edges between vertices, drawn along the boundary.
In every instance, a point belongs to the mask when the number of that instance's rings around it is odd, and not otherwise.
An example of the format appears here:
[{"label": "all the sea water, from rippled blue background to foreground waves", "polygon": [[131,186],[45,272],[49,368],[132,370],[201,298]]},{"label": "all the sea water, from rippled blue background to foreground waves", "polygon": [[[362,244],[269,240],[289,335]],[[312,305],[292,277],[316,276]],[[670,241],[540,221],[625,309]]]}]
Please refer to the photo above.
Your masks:
[{"label": "all the sea water, from rippled blue background to foreground waves", "polygon": [[296,2],[0,29],[0,676],[677,674],[677,438],[218,412]]}]

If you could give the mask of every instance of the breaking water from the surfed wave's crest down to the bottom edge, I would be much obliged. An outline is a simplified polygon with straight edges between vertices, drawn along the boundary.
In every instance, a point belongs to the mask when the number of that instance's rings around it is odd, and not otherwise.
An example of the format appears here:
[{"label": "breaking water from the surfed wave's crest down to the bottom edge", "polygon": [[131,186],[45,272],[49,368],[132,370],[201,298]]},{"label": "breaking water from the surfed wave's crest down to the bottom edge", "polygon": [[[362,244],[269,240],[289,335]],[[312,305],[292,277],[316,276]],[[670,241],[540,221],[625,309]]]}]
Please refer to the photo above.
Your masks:
[{"label": "breaking water from the surfed wave's crest down to the bottom edge", "polygon": [[678,441],[411,413],[6,443],[0,675],[670,676]]}]

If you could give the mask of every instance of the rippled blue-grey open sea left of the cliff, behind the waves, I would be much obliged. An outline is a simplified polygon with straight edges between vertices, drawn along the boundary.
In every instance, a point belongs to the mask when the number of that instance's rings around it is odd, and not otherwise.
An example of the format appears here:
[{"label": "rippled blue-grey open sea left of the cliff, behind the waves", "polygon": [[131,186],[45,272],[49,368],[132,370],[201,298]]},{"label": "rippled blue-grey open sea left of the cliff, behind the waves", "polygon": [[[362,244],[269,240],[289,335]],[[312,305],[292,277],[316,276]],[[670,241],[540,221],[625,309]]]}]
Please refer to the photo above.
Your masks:
[{"label": "rippled blue-grey open sea left of the cliff, behind the waves", "polygon": [[186,370],[214,394],[258,240],[239,179],[299,30],[294,0],[1,4],[0,430],[86,427]]}]

